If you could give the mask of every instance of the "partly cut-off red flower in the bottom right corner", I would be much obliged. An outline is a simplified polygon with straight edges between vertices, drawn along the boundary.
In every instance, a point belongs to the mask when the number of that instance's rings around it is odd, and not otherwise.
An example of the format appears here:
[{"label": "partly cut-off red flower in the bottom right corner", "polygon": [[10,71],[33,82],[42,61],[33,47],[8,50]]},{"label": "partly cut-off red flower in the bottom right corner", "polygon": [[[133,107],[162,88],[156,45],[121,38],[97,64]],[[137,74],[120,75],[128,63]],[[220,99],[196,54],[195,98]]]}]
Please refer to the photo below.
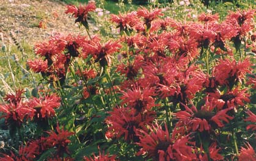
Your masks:
[{"label": "partly cut-off red flower in the bottom right corner", "polygon": [[256,154],[254,148],[252,148],[249,143],[247,143],[246,148],[242,147],[240,149],[240,155],[238,156],[239,161],[250,160],[256,161]]}]

